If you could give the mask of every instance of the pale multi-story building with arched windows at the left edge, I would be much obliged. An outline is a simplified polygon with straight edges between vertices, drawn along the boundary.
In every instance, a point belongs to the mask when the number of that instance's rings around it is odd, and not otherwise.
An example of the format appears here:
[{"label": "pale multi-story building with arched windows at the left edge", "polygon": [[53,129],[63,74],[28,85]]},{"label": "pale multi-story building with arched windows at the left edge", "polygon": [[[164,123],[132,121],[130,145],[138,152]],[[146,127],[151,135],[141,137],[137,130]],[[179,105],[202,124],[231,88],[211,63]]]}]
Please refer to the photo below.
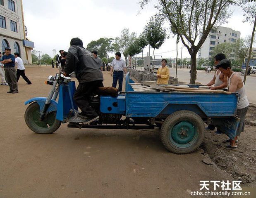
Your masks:
[{"label": "pale multi-story building with arched windows at the left edge", "polygon": [[34,43],[26,38],[22,0],[0,0],[0,51],[10,47],[18,52],[24,64],[32,64]]}]

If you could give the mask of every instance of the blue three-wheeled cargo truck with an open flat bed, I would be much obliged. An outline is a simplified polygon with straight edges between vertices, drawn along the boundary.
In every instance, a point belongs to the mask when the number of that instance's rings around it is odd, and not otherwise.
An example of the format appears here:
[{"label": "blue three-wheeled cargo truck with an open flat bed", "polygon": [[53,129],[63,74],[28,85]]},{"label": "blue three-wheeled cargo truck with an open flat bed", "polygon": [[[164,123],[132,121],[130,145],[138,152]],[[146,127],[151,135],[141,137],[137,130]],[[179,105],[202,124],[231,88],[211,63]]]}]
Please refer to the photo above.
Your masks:
[{"label": "blue three-wheeled cargo truck with an open flat bed", "polygon": [[[238,94],[195,92],[136,92],[126,75],[125,92],[116,97],[93,95],[90,105],[99,119],[86,124],[77,116],[73,95],[75,82],[62,74],[49,76],[52,85],[48,97],[35,97],[25,112],[28,127],[39,134],[51,134],[62,123],[67,127],[98,129],[154,129],[160,127],[160,139],[173,153],[190,153],[200,146],[204,123],[218,126],[234,139],[239,118],[235,117]],[[189,87],[198,87],[189,85]]]}]

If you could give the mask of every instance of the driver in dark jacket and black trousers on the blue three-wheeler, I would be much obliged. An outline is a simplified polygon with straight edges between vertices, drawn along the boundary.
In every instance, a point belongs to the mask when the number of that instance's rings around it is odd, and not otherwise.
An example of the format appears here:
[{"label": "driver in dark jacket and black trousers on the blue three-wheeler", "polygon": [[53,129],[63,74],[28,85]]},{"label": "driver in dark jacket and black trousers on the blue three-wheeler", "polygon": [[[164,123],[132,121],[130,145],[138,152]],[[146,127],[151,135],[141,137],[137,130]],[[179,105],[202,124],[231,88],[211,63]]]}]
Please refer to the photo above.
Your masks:
[{"label": "driver in dark jacket and black trousers on the blue three-wheeler", "polygon": [[74,101],[81,109],[78,116],[85,118],[86,123],[90,123],[99,118],[89,105],[89,100],[98,87],[103,87],[103,73],[93,54],[84,49],[79,38],[72,38],[70,45],[63,75],[68,76],[69,73],[75,72],[79,85],[74,93]]}]

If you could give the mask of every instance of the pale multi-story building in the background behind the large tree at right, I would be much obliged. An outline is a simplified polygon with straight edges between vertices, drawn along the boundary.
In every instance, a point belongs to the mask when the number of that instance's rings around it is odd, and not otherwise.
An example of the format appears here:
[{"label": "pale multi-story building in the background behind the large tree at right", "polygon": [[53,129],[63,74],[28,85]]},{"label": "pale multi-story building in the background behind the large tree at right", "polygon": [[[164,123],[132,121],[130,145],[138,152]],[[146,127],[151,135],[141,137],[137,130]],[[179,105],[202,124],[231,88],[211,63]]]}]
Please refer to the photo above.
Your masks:
[{"label": "pale multi-story building in the background behind the large tree at right", "polygon": [[[217,30],[213,29],[199,49],[198,58],[212,59],[215,55],[215,46],[225,42],[234,43],[240,38],[240,35],[241,33],[239,31],[232,30],[231,28],[220,26]],[[229,59],[234,59],[234,50],[230,54]]]}]

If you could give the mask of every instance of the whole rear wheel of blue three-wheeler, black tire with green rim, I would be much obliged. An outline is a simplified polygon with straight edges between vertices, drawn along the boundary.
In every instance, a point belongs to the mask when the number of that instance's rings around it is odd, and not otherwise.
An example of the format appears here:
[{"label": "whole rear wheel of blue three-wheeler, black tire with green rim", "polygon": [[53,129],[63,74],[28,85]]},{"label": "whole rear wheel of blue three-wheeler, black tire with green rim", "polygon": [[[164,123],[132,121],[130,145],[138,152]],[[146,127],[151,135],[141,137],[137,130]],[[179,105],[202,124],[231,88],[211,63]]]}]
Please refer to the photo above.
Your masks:
[{"label": "whole rear wheel of blue three-wheeler, black tire with green rim", "polygon": [[192,111],[176,111],[161,127],[160,138],[168,151],[176,154],[191,153],[204,138],[205,127],[199,115]]}]

